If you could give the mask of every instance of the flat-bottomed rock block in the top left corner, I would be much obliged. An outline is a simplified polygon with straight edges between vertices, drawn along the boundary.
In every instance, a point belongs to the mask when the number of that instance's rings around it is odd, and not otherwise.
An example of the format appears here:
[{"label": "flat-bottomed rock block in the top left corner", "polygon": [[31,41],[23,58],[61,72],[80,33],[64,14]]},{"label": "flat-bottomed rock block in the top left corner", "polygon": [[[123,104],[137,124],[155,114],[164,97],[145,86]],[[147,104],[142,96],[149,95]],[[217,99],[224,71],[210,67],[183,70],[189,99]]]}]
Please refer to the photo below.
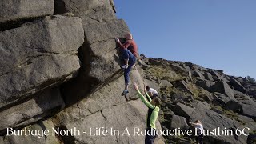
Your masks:
[{"label": "flat-bottomed rock block in the top left corner", "polygon": [[54,14],[54,0],[42,0],[40,2],[37,0],[2,0],[0,2],[0,23],[50,14]]}]

